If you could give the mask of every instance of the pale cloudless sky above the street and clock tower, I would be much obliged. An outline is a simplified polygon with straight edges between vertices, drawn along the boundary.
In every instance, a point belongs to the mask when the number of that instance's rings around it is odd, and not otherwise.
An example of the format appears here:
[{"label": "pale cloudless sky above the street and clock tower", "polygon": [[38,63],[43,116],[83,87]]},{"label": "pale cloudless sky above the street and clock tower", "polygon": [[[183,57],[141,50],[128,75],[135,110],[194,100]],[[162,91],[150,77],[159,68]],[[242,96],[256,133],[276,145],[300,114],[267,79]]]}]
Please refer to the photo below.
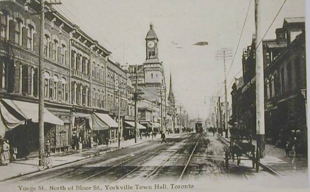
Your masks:
[{"label": "pale cloudless sky above the street and clock tower", "polygon": [[[222,48],[235,53],[241,29],[249,13],[240,45],[232,62],[226,60],[227,97],[231,104],[234,77],[241,77],[242,50],[255,33],[254,0],[61,0],[56,8],[101,45],[112,51],[121,65],[145,61],[145,36],[153,23],[159,38],[159,59],[163,62],[167,96],[169,75],[179,105],[190,118],[207,118],[211,96],[224,100],[224,63],[216,58]],[[267,31],[284,0],[261,0],[262,29]],[[287,0],[265,39],[274,39],[285,17],[303,17],[304,0]],[[208,42],[208,45],[193,45]],[[240,72],[240,73],[238,73]],[[219,92],[219,94],[218,94]]]}]

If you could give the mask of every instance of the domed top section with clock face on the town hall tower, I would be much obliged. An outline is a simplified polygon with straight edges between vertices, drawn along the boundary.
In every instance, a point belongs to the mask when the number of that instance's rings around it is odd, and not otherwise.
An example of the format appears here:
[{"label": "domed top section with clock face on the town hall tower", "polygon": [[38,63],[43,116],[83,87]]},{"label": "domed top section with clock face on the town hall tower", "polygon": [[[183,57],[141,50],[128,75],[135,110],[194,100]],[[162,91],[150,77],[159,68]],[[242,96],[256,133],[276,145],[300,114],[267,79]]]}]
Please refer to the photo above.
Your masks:
[{"label": "domed top section with clock face on the town hall tower", "polygon": [[146,37],[146,60],[148,59],[158,59],[158,38],[153,29],[153,24],[150,23],[150,30],[148,31]]}]

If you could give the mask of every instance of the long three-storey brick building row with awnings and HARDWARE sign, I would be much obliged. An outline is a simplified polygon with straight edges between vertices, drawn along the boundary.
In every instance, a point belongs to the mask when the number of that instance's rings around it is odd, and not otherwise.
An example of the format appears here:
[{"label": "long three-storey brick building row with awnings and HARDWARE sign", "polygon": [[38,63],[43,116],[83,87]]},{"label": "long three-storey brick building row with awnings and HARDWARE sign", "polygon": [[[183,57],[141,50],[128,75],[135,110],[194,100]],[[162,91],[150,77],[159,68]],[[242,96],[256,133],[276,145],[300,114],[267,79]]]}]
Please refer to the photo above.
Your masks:
[{"label": "long three-storey brick building row with awnings and HARDWARE sign", "polygon": [[[18,157],[38,149],[38,7],[37,1],[0,2],[0,133]],[[46,9],[45,140],[52,151],[90,147],[106,137],[115,141],[118,109],[121,127],[127,113],[126,71],[77,25]]]}]

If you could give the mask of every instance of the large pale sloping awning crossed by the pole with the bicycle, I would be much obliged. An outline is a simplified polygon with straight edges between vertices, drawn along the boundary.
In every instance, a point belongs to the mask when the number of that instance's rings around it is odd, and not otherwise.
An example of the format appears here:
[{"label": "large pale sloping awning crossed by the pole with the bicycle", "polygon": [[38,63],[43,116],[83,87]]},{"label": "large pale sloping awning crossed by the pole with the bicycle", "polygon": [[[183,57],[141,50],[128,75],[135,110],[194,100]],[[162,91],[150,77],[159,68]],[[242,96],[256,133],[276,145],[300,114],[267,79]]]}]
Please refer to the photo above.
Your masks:
[{"label": "large pale sloping awning crossed by the pole with the bicycle", "polygon": [[[31,120],[33,123],[39,122],[39,104],[38,103],[30,103],[25,101],[17,101],[10,99],[2,99],[3,105],[7,105],[14,109],[16,113],[22,116],[26,120]],[[6,107],[7,107],[6,106]],[[12,114],[15,116],[14,114]],[[55,125],[64,125],[64,122],[52,114],[49,110],[44,107],[43,112],[44,123],[51,123]]]}]

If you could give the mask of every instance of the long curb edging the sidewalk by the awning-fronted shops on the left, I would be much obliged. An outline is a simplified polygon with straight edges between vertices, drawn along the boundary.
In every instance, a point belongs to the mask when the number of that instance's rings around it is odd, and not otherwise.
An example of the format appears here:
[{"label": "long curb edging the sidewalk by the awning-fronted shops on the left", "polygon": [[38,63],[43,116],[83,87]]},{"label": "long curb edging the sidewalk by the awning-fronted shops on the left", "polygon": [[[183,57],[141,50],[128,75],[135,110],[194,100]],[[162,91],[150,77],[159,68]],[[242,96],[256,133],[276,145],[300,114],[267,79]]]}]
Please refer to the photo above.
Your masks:
[{"label": "long curb edging the sidewalk by the awning-fronted shops on the left", "polygon": [[[115,147],[114,149],[111,149],[111,150],[104,150],[104,151],[100,151],[100,152],[97,152],[97,153],[94,153],[94,154],[89,154],[89,155],[87,155],[87,156],[85,156],[85,157],[83,157],[81,159],[77,159],[77,160],[74,160],[74,161],[70,161],[70,162],[59,164],[59,165],[55,165],[55,166],[53,166],[53,167],[51,167],[49,169],[46,169],[46,170],[51,170],[52,168],[55,168],[55,167],[60,167],[60,166],[67,165],[67,164],[70,164],[70,163],[75,163],[75,162],[82,161],[82,160],[85,160],[85,159],[90,159],[92,157],[100,156],[102,154],[107,154],[107,153],[110,153],[110,152],[113,152],[113,151],[117,151],[117,150],[120,150],[120,149],[125,149],[127,147],[132,147],[132,146],[135,146],[135,145],[140,145],[140,144],[143,144],[143,143],[146,143],[146,142],[150,142],[150,141],[152,141],[152,139],[150,139],[148,141],[143,141],[143,142],[140,142],[140,143],[136,143],[134,145],[129,145],[129,146],[126,146],[126,147],[120,147],[120,148]],[[42,170],[42,171],[46,171],[46,170]],[[19,174],[19,175],[16,175],[16,176],[11,176],[9,178],[0,180],[0,182],[8,181],[8,180],[15,179],[15,178],[18,178],[18,177],[21,177],[21,176],[26,176],[26,175],[30,175],[30,174],[37,173],[37,172],[42,172],[42,171],[36,170],[36,171],[33,171],[33,172],[28,172],[28,173]]]}]

